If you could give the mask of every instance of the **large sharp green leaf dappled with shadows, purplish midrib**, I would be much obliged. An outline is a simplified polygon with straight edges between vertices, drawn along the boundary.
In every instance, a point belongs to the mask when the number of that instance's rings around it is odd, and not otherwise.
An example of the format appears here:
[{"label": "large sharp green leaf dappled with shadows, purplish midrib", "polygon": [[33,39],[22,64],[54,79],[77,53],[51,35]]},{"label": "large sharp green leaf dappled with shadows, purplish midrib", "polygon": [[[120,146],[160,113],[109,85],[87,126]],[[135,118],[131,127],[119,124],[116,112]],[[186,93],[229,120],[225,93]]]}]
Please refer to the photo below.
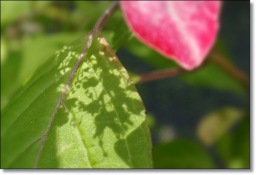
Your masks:
[{"label": "large sharp green leaf dappled with shadows, purplish midrib", "polygon": [[1,168],[152,168],[145,108],[100,34],[70,79],[87,40],[57,51],[2,111]]}]

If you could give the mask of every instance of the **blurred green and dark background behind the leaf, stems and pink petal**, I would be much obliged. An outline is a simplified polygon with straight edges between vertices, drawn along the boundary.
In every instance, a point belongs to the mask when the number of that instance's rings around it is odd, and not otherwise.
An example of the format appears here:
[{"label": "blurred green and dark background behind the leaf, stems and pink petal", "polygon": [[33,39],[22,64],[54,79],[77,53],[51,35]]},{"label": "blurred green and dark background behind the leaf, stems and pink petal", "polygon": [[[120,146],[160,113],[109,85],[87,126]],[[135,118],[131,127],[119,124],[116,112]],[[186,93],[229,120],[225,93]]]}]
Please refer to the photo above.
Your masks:
[{"label": "blurred green and dark background behind the leaf, stems and pink petal", "polygon": [[[89,32],[112,1],[0,1],[1,110],[62,46]],[[224,1],[216,47],[250,75],[249,1]],[[178,67],[137,41],[118,10],[102,30],[135,74]],[[154,168],[250,168],[250,92],[222,68],[136,84],[152,134]]]}]

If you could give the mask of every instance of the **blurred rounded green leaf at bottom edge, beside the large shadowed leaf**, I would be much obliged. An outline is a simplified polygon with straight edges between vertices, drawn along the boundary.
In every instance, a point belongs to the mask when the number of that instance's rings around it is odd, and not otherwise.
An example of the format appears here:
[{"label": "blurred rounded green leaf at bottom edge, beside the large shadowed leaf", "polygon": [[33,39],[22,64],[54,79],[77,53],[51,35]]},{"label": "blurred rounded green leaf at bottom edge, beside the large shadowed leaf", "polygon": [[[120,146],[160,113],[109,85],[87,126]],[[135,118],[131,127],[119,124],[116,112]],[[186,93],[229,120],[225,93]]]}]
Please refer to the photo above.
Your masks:
[{"label": "blurred rounded green leaf at bottom edge, beside the large shadowed leaf", "polygon": [[155,169],[213,169],[210,156],[196,143],[180,139],[154,147]]}]

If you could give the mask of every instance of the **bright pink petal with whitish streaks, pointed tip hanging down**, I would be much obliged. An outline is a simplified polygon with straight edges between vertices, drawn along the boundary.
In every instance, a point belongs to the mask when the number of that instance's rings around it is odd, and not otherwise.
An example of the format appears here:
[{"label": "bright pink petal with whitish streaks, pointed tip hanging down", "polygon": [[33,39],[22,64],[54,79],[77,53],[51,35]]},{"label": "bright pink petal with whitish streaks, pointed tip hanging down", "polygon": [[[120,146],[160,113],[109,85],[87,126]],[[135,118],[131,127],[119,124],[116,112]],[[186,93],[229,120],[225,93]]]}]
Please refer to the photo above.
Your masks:
[{"label": "bright pink petal with whitish streaks, pointed tip hanging down", "polygon": [[166,58],[192,70],[215,43],[221,1],[121,1],[135,37]]}]

